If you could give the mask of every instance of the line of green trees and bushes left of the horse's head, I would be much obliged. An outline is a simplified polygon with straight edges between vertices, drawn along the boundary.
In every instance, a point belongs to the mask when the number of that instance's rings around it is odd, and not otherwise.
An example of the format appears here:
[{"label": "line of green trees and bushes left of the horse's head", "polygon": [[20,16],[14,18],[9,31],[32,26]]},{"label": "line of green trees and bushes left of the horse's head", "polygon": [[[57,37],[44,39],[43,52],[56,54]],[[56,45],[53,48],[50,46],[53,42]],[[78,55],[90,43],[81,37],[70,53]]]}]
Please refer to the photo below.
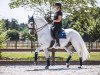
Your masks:
[{"label": "line of green trees and bushes left of the horse's head", "polygon": [[0,20],[0,46],[6,40],[19,40],[20,35],[25,39],[25,34],[28,32],[27,24],[18,23],[16,19]]}]

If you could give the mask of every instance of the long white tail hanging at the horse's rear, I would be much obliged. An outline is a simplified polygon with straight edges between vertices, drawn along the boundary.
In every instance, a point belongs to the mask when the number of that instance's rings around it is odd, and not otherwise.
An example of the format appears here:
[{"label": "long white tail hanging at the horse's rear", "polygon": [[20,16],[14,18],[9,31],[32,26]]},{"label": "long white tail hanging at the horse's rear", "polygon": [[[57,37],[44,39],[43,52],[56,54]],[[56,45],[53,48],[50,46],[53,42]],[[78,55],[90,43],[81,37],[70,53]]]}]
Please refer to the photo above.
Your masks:
[{"label": "long white tail hanging at the horse's rear", "polygon": [[82,61],[85,61],[90,57],[90,55],[82,38],[80,41],[80,47],[82,49],[81,50]]}]

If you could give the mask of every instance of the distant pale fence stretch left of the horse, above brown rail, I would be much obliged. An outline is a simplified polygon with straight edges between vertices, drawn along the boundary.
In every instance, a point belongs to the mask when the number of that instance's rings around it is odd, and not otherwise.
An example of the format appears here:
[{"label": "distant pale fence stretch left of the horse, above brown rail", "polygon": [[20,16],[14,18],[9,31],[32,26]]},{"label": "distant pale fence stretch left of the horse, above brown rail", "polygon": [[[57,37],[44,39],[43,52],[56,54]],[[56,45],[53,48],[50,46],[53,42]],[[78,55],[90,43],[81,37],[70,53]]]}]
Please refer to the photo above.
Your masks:
[{"label": "distant pale fence stretch left of the horse, above brown rail", "polygon": [[32,49],[38,47],[38,41],[6,41],[3,43],[3,49]]}]

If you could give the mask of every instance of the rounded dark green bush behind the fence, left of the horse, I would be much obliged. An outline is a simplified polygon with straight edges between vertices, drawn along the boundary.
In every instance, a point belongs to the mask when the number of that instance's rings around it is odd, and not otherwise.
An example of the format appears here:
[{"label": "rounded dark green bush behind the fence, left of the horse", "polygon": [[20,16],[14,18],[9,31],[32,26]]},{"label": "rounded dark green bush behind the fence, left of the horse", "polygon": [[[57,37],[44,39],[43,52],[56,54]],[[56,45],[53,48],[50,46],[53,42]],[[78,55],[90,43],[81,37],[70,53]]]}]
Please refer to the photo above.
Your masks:
[{"label": "rounded dark green bush behind the fence, left of the horse", "polygon": [[19,40],[19,32],[15,29],[13,30],[8,30],[7,32],[7,38],[9,38],[10,40]]}]

